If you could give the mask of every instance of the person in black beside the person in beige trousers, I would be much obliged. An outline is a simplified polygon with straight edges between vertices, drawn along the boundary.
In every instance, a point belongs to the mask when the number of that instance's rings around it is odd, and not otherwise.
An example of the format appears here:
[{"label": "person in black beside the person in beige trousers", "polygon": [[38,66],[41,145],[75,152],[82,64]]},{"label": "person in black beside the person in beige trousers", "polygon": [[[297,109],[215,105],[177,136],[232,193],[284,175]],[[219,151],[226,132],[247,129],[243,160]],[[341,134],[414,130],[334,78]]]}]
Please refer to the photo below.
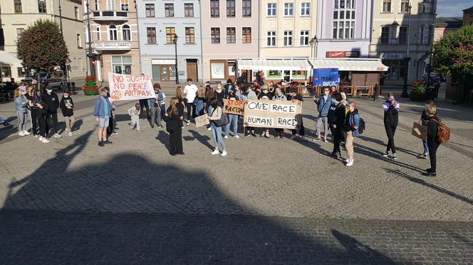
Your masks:
[{"label": "person in black beside the person in beige trousers", "polygon": [[333,94],[332,104],[328,109],[328,126],[333,136],[333,158],[340,157],[340,142],[342,139],[343,121],[345,121],[345,105],[342,104],[342,95]]}]

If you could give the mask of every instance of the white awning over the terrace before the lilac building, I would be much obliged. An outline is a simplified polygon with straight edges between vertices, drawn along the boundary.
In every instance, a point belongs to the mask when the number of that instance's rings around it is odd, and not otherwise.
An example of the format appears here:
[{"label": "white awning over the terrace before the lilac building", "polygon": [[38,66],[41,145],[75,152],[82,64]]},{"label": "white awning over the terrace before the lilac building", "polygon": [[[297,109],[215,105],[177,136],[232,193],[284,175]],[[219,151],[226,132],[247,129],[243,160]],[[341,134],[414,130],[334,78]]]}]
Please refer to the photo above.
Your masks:
[{"label": "white awning over the terrace before the lilac building", "polygon": [[388,66],[379,59],[310,59],[309,63],[316,68],[338,68],[339,71],[384,72]]}]

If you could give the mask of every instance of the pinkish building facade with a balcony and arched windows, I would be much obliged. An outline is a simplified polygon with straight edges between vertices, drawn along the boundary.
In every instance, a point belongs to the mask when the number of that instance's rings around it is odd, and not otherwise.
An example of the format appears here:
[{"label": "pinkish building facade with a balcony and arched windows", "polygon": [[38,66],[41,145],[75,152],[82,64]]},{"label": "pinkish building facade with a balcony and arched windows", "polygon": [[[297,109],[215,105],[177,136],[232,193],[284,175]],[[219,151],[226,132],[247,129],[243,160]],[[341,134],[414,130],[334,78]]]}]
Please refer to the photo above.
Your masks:
[{"label": "pinkish building facade with a balcony and arched windows", "polygon": [[[141,75],[136,9],[130,0],[84,0],[89,2],[90,42],[87,16],[84,16],[85,49],[92,47],[93,71],[99,81],[108,80],[108,72]],[[88,65],[88,64],[87,64]],[[89,71],[90,72],[90,71]]]}]

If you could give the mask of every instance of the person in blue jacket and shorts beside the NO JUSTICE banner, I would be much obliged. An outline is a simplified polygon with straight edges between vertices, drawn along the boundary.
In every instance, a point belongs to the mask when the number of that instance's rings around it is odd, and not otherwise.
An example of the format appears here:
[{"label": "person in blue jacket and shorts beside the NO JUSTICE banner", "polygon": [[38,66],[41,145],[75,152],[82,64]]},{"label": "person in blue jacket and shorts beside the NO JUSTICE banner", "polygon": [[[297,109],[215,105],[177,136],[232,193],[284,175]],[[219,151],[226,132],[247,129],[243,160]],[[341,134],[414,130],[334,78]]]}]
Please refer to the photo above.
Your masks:
[{"label": "person in blue jacket and shorts beside the NO JUSTICE banner", "polygon": [[100,95],[95,101],[93,113],[95,122],[98,122],[98,146],[105,146],[105,144],[112,144],[112,142],[107,139],[107,127],[110,122],[110,109],[112,109],[112,104],[108,100],[108,90],[102,88],[99,92]]}]

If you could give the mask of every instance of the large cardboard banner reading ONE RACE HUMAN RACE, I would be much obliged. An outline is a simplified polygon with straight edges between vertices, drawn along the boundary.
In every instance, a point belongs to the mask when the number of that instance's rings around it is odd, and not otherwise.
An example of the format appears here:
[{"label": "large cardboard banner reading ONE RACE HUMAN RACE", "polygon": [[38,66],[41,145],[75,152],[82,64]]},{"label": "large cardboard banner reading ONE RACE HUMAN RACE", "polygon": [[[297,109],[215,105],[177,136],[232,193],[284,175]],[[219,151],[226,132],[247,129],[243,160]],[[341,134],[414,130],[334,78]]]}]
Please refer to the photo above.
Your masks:
[{"label": "large cardboard banner reading ONE RACE HUMAN RACE", "polygon": [[302,102],[248,100],[244,104],[244,126],[295,129],[301,122]]}]

